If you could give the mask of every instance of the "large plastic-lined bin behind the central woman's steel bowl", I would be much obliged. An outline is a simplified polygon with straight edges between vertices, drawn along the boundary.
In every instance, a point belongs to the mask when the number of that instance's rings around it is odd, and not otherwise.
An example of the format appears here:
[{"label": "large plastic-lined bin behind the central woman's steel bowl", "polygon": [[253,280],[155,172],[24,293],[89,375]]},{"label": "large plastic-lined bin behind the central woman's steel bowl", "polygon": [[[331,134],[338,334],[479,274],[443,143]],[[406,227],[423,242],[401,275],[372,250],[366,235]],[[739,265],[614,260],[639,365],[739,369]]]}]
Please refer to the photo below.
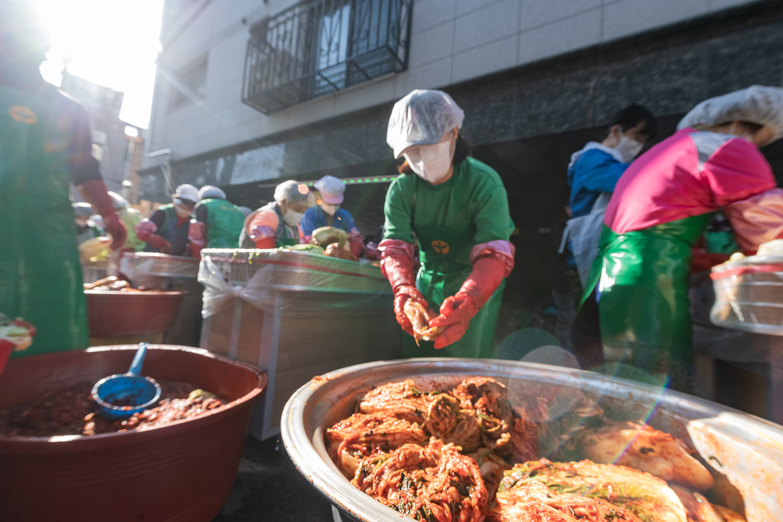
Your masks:
[{"label": "large plastic-lined bin behind the central woman's steel bowl", "polygon": [[201,251],[200,347],[258,365],[269,391],[251,423],[280,433],[283,405],[313,376],[400,357],[391,286],[370,264],[295,251]]}]

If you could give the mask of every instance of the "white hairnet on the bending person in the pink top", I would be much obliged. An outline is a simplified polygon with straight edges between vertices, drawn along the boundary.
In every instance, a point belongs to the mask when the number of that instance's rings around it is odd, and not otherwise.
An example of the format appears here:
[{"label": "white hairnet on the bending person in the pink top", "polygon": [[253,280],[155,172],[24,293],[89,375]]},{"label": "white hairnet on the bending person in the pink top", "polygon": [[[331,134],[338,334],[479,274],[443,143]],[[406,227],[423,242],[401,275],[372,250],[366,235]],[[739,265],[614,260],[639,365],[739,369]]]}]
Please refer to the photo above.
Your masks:
[{"label": "white hairnet on the bending person in the pink top", "polygon": [[720,125],[749,121],[769,127],[775,139],[783,137],[783,88],[751,85],[749,88],[705,99],[677,124],[677,130],[694,125]]}]

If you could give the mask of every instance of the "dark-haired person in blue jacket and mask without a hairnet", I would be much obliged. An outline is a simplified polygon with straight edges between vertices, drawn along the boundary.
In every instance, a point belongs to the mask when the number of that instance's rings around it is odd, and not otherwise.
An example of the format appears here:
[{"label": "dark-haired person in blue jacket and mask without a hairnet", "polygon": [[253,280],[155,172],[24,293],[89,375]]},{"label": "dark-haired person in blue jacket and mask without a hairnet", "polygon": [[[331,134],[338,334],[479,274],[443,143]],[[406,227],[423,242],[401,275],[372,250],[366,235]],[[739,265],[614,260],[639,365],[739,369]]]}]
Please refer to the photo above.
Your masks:
[{"label": "dark-haired person in blue jacket and mask without a hairnet", "polygon": [[612,117],[600,143],[588,142],[571,155],[568,164],[571,219],[563,232],[560,251],[568,244],[572,254],[568,264],[576,265],[583,286],[598,254],[604,211],[617,180],[656,130],[655,118],[649,110],[630,105]]}]

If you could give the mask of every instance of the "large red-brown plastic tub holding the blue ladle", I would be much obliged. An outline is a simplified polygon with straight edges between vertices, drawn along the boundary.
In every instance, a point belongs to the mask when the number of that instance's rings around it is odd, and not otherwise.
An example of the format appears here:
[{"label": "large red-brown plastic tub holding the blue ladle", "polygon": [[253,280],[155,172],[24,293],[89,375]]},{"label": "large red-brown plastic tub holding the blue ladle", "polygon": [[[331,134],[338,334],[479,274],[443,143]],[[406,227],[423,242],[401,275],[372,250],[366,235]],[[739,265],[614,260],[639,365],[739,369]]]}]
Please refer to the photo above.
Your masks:
[{"label": "large red-brown plastic tub holding the blue ladle", "polygon": [[[72,383],[124,372],[137,346],[93,347],[9,361],[0,409]],[[208,522],[229,496],[262,369],[191,347],[152,345],[144,373],[192,383],[232,404],[126,433],[0,435],[0,520]]]}]

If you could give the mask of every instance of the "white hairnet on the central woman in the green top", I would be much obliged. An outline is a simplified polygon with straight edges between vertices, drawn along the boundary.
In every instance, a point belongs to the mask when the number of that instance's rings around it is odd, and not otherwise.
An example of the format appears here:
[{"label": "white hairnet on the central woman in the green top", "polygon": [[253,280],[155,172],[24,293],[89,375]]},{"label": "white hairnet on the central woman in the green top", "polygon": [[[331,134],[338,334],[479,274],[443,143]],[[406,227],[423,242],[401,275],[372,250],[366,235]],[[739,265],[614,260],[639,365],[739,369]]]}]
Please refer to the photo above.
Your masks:
[{"label": "white hairnet on the central woman in the green top", "polygon": [[386,142],[396,159],[410,146],[439,142],[464,119],[464,110],[446,92],[417,89],[394,104]]}]

